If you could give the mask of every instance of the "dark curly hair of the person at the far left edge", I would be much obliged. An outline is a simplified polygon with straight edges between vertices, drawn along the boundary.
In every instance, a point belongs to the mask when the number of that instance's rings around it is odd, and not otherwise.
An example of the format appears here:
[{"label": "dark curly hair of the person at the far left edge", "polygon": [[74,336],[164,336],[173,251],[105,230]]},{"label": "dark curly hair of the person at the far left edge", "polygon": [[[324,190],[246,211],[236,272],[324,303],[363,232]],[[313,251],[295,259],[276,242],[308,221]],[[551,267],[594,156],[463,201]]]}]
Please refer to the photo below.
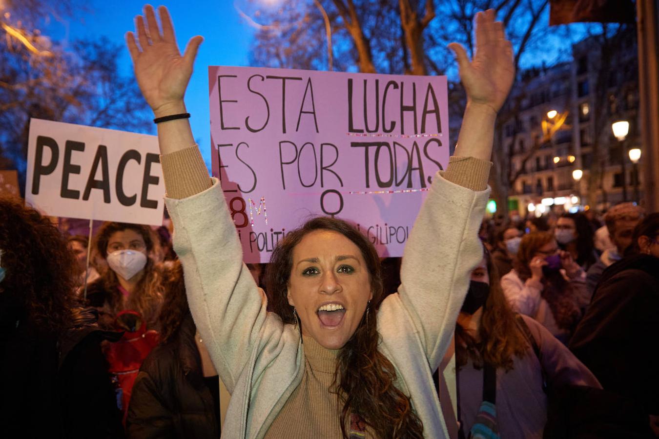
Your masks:
[{"label": "dark curly hair of the person at the far left edge", "polygon": [[0,308],[13,308],[40,328],[71,328],[76,306],[74,257],[47,217],[18,201],[0,198]]}]

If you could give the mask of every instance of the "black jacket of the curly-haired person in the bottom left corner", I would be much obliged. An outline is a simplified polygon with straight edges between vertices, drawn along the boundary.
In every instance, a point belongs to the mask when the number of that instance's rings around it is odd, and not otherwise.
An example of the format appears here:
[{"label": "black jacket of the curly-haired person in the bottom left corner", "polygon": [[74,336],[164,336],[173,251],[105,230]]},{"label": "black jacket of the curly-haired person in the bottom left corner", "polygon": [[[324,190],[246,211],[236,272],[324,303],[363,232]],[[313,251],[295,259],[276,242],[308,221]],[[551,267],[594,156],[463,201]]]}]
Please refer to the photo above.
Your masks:
[{"label": "black jacket of the curly-haired person in the bottom left corner", "polygon": [[59,336],[0,303],[0,436],[121,438],[121,413],[101,353],[96,316],[76,313]]}]

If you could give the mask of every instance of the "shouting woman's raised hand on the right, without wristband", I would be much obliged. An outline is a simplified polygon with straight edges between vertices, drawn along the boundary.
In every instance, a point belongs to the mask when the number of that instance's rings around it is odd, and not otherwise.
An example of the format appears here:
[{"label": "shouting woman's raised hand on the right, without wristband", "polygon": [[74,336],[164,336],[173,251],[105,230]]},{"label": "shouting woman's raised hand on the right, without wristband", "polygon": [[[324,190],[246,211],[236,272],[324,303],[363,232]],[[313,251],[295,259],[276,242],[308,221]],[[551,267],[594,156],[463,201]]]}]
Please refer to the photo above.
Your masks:
[{"label": "shouting woman's raised hand on the right, without wristband", "polygon": [[498,112],[515,79],[513,46],[505,39],[503,23],[494,21],[496,12],[476,13],[476,49],[469,61],[459,43],[449,44],[455,53],[460,79],[467,91],[467,103],[482,104]]}]

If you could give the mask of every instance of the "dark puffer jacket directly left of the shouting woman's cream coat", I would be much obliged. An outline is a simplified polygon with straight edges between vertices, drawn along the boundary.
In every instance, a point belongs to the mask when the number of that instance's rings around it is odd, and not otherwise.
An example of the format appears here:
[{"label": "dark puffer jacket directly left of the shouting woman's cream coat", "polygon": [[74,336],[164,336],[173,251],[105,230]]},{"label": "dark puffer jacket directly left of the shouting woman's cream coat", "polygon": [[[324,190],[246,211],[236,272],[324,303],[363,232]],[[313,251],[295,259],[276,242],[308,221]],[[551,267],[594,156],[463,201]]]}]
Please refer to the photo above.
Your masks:
[{"label": "dark puffer jacket directly left of the shouting woman's cream coat", "polygon": [[204,382],[196,328],[188,314],[167,344],[140,368],[130,397],[129,438],[218,438],[212,393]]}]

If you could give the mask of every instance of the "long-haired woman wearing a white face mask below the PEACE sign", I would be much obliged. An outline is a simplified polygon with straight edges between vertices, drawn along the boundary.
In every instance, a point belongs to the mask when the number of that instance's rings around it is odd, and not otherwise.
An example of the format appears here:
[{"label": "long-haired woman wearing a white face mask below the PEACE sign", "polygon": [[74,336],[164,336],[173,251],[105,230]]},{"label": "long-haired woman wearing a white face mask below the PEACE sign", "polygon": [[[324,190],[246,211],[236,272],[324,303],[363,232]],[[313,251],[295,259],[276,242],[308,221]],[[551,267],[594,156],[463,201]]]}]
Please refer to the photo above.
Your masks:
[{"label": "long-haired woman wearing a white face mask below the PEACE sign", "polygon": [[94,247],[107,268],[88,286],[86,298],[98,309],[101,326],[112,328],[117,313],[132,309],[142,315],[148,329],[158,329],[154,326],[163,301],[161,269],[149,256],[155,243],[147,226],[121,222],[101,226]]}]

